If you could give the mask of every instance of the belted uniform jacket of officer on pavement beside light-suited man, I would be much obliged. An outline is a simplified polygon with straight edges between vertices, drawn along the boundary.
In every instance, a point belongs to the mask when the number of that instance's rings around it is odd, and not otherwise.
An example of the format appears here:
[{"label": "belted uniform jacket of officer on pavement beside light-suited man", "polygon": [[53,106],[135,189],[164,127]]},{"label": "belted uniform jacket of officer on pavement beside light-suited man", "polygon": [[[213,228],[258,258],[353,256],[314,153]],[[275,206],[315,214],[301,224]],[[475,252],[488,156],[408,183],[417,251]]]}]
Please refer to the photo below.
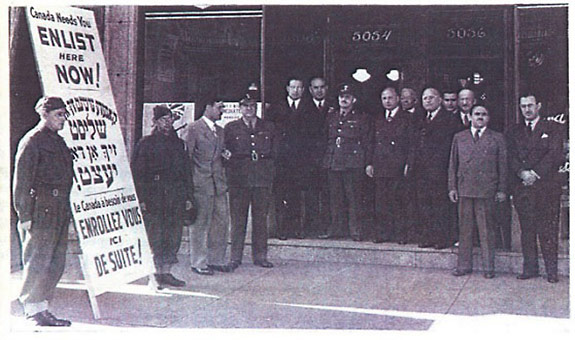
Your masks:
[{"label": "belted uniform jacket of officer on pavement beside light-suited man", "polygon": [[274,124],[257,119],[250,129],[242,118],[225,127],[225,147],[232,156],[225,162],[229,186],[271,187],[275,176],[278,137]]}]

